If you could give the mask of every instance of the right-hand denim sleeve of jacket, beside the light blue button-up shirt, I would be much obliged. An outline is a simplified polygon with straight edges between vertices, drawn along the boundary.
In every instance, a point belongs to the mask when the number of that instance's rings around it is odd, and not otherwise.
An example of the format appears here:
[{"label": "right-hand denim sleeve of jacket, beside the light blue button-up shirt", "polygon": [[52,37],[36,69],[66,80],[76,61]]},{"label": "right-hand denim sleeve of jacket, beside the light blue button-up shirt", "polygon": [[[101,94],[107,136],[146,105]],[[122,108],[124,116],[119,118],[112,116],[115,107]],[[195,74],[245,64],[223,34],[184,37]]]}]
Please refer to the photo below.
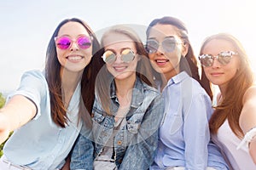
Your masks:
[{"label": "right-hand denim sleeve of jacket, beside the light blue button-up shirt", "polygon": [[143,117],[141,127],[125,151],[125,156],[119,170],[148,169],[153,163],[158,144],[158,129],[164,114],[163,104],[163,99],[159,95],[149,105]]}]

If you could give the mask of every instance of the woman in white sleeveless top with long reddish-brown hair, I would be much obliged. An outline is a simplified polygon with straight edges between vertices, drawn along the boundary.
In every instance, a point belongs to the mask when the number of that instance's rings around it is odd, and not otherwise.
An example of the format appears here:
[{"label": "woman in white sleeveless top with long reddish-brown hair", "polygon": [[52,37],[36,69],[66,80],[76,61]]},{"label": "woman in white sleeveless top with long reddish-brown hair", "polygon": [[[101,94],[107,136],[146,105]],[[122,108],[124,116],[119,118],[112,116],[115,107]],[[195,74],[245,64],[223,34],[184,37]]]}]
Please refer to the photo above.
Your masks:
[{"label": "woman in white sleeveless top with long reddish-brown hair", "polygon": [[199,59],[202,86],[210,96],[211,84],[220,90],[209,122],[212,139],[233,169],[256,169],[256,86],[241,42],[226,33],[207,37]]}]

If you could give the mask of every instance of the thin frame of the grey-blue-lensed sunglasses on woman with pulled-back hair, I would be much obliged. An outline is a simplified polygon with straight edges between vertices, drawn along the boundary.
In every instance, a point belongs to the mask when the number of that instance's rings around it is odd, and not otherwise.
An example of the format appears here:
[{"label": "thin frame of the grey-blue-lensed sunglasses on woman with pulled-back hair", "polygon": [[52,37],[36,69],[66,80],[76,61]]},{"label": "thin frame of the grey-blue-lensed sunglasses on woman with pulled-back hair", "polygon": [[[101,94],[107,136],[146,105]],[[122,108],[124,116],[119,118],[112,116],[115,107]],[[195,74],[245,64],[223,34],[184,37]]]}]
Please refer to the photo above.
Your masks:
[{"label": "thin frame of the grey-blue-lensed sunglasses on woman with pulled-back hair", "polygon": [[[163,44],[163,42],[165,42],[166,40],[169,40],[169,39],[172,39],[173,40],[173,44],[174,44],[171,49],[169,49],[170,47],[166,47],[166,45]],[[148,42],[149,41],[157,43],[157,47],[154,48],[154,50],[148,49]],[[177,44],[184,44],[184,42],[177,42],[177,39],[175,37],[165,37],[165,39],[162,42],[158,42],[155,39],[148,39],[147,42],[146,42],[146,50],[147,50],[148,54],[154,54],[154,53],[156,53],[158,51],[158,48],[160,48],[160,46],[161,46],[166,53],[171,53],[176,48]]]}]

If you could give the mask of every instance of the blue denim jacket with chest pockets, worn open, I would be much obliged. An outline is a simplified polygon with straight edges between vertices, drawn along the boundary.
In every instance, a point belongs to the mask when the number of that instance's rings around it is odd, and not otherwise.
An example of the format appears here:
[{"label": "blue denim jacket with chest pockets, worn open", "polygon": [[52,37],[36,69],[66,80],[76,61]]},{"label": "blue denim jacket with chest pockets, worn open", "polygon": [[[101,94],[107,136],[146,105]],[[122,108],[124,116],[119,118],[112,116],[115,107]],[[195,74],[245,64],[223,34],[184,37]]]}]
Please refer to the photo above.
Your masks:
[{"label": "blue denim jacket with chest pockets, worn open", "polygon": [[[110,111],[116,113],[119,109],[119,101],[116,96],[114,82],[111,84],[110,99]],[[127,124],[116,133],[113,139],[114,161],[119,170],[143,170],[148,169],[152,164],[163,113],[164,103],[160,93],[137,77],[132,90],[130,111],[125,117]],[[113,133],[114,117],[102,111],[98,99],[95,100],[93,106],[93,115],[92,136],[95,142],[94,157],[96,157],[102,153],[105,144]],[[72,169],[91,169],[91,166],[86,167],[92,165],[92,162],[88,162],[91,159],[85,157],[90,156],[91,150],[86,151],[83,147],[77,146],[78,144],[81,146],[90,145],[88,143],[89,139],[79,139],[81,142],[78,141],[75,144],[72,159],[73,157],[80,157],[80,161],[76,159],[76,165],[72,162]],[[86,148],[90,147],[87,146]],[[84,153],[81,150],[84,150]],[[82,154],[84,157],[78,156],[78,154]],[[84,161],[87,162],[83,163]]]}]

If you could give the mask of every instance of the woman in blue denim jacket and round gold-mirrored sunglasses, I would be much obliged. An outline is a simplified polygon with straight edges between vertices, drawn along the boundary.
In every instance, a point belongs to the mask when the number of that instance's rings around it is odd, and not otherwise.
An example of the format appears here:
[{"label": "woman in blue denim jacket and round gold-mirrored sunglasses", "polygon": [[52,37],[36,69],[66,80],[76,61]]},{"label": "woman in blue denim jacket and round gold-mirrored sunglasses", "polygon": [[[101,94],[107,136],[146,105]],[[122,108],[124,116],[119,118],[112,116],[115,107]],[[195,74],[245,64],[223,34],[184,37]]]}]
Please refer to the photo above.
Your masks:
[{"label": "woman in blue denim jacket and round gold-mirrored sunglasses", "polygon": [[[96,77],[92,111],[94,169],[146,170],[153,162],[164,106],[151,87],[147,52],[135,31],[113,26],[102,36],[102,59],[106,65]],[[72,159],[80,157],[74,169],[87,169],[83,138],[73,150]]]}]

